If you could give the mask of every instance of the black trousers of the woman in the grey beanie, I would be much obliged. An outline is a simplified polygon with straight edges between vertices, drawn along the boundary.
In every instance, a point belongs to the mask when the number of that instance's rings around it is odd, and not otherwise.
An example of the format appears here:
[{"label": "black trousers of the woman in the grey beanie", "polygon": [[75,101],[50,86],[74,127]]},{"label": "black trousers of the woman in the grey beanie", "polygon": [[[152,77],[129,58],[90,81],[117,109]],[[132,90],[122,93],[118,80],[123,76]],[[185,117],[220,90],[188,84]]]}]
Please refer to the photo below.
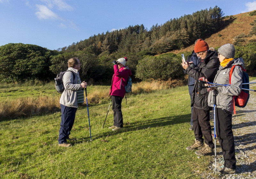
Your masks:
[{"label": "black trousers of the woman in the grey beanie", "polygon": [[216,134],[222,149],[224,166],[236,169],[235,142],[232,131],[232,113],[225,109],[216,109]]}]

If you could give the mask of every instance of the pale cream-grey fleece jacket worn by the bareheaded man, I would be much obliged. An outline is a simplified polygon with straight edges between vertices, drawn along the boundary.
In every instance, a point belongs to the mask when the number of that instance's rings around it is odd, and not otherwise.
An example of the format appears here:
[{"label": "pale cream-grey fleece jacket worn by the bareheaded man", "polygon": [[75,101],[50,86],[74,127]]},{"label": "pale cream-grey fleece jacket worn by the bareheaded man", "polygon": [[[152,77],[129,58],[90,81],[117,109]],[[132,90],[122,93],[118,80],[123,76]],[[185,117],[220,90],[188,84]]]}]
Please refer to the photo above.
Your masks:
[{"label": "pale cream-grey fleece jacket worn by the bareheaded man", "polygon": [[68,70],[73,71],[76,76],[73,81],[73,74],[71,72],[66,72],[63,75],[62,82],[65,87],[61,97],[60,104],[68,107],[76,107],[77,108],[77,90],[83,89],[81,84],[77,84],[77,77],[79,76],[78,70],[69,67]]}]

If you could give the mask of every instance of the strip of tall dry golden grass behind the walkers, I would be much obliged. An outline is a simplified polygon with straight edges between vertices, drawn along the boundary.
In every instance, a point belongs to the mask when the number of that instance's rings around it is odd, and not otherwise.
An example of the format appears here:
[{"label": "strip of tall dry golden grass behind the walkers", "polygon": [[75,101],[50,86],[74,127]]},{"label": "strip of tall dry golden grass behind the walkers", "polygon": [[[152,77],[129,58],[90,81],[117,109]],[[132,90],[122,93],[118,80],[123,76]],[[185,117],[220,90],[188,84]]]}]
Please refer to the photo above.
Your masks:
[{"label": "strip of tall dry golden grass behind the walkers", "polygon": [[[176,86],[183,86],[184,80],[168,80],[151,82],[133,83],[132,93],[130,95],[138,95],[141,93],[151,93],[153,91],[170,89]],[[109,89],[102,86],[93,86],[87,91],[88,104],[97,104],[102,100],[109,100]],[[86,106],[86,99],[83,106]],[[7,99],[0,102],[0,120],[2,118],[17,118],[20,116],[38,115],[40,113],[51,113],[60,108],[60,95],[58,96],[42,96],[37,98],[26,97],[18,99]]]}]

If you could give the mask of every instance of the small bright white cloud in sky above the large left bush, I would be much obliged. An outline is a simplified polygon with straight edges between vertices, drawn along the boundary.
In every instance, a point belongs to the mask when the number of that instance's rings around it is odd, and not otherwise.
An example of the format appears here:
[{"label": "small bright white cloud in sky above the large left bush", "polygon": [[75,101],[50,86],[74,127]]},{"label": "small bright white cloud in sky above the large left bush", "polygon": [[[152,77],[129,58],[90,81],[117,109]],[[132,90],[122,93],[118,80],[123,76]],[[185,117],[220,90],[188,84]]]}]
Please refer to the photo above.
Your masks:
[{"label": "small bright white cloud in sky above the large left bush", "polygon": [[35,13],[38,19],[61,19],[45,5],[36,4],[38,11]]}]

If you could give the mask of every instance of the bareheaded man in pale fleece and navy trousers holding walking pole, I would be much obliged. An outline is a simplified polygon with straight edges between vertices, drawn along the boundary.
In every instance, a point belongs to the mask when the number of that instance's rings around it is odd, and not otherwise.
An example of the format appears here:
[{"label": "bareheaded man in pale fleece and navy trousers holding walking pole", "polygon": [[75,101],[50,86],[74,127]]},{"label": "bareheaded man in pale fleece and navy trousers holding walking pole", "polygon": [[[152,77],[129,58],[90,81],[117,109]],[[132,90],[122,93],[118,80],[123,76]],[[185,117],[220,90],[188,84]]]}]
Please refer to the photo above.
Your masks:
[{"label": "bareheaded man in pale fleece and navy trousers holding walking pole", "polygon": [[[70,131],[73,127],[76,110],[79,103],[84,103],[84,88],[87,87],[86,82],[81,82],[78,70],[80,70],[80,61],[77,57],[68,60],[68,70],[63,75],[62,82],[65,87],[60,97],[61,122],[59,131],[59,146],[70,147],[67,143]],[[75,78],[73,77],[75,74]]]}]

